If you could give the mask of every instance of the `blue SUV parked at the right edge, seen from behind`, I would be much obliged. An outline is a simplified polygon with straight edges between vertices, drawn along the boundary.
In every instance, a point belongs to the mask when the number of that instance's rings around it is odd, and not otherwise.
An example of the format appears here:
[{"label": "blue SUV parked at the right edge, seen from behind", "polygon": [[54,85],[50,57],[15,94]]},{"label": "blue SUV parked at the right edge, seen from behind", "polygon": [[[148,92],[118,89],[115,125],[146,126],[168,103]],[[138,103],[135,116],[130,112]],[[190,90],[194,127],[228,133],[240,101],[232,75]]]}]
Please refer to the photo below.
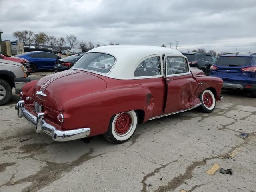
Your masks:
[{"label": "blue SUV parked at the right edge, seen from behind", "polygon": [[248,90],[256,98],[256,53],[219,56],[210,69],[210,76],[222,78],[222,88]]}]

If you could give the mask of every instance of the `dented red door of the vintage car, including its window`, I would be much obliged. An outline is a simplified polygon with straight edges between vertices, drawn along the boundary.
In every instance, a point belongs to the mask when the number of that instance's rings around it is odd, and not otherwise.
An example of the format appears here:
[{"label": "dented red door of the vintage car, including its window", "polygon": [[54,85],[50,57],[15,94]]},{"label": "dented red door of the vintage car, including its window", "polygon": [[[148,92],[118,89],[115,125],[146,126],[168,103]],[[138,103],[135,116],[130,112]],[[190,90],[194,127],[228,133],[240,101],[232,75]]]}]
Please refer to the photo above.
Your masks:
[{"label": "dented red door of the vintage car, including its window", "polygon": [[193,78],[188,60],[181,55],[165,56],[166,106],[164,113],[173,113],[194,106],[197,82]]}]

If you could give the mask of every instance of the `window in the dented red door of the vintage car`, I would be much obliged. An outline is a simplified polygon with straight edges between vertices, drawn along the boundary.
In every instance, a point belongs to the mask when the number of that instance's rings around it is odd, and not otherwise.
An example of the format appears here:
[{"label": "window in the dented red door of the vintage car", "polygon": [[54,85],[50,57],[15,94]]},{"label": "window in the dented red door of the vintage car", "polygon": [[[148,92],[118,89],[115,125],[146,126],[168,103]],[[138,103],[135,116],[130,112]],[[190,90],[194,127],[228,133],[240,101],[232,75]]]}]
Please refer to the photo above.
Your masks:
[{"label": "window in the dented red door of the vintage car", "polygon": [[188,63],[184,57],[167,56],[166,60],[166,74],[182,74],[188,72]]}]

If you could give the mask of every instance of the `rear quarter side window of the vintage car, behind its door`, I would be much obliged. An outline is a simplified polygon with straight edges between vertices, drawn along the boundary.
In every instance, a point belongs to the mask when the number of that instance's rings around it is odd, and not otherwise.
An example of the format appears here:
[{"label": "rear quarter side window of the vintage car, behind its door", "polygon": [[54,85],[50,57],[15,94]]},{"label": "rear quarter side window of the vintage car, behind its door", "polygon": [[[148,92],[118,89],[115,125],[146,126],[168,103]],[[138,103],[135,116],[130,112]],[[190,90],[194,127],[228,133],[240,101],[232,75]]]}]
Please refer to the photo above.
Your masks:
[{"label": "rear quarter side window of the vintage car, behind its door", "polygon": [[160,57],[151,57],[142,61],[134,71],[134,77],[160,76],[161,60]]}]

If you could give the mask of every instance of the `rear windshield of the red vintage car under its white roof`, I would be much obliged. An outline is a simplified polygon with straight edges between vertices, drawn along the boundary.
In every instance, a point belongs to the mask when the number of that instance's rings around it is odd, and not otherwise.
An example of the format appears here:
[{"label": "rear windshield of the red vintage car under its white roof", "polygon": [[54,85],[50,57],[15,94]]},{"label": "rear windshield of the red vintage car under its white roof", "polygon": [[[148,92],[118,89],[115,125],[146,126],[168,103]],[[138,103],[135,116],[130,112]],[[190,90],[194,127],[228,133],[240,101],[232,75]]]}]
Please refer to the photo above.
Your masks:
[{"label": "rear windshield of the red vintage car under its white roof", "polygon": [[115,58],[104,53],[86,53],[73,67],[83,68],[101,73],[108,73],[115,62]]}]

